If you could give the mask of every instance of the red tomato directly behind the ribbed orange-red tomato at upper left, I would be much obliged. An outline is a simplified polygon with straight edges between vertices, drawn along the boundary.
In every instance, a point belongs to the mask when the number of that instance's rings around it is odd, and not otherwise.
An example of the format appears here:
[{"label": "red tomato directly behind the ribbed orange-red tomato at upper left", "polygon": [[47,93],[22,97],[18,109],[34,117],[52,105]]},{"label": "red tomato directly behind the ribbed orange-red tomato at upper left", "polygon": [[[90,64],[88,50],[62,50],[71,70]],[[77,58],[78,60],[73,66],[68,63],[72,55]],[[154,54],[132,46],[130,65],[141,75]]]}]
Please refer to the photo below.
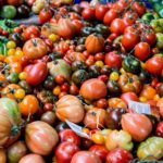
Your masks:
[{"label": "red tomato directly behind the ribbed orange-red tomato at upper left", "polygon": [[36,38],[40,36],[40,30],[37,26],[30,25],[24,30],[23,36],[25,39]]}]

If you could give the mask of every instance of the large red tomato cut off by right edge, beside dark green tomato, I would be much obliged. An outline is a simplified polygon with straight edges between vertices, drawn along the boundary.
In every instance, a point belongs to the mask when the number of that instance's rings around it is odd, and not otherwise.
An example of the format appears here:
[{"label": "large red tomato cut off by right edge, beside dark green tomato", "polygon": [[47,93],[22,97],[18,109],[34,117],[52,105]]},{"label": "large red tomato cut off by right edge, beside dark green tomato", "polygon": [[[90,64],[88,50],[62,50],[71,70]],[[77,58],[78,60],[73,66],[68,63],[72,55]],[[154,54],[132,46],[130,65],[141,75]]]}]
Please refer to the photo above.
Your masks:
[{"label": "large red tomato cut off by right edge, beside dark green tomato", "polygon": [[153,75],[161,75],[163,70],[163,57],[162,55],[154,55],[147,60],[145,64],[146,70],[153,74]]}]

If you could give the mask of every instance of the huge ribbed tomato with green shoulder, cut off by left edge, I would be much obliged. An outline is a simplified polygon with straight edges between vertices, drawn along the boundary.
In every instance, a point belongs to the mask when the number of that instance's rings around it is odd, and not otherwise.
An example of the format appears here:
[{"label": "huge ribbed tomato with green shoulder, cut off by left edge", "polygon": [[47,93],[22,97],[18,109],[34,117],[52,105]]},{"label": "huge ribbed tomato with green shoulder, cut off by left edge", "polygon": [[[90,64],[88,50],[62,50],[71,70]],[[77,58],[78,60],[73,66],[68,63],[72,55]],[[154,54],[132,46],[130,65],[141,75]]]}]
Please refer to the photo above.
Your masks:
[{"label": "huge ribbed tomato with green shoulder, cut off by left edge", "polygon": [[18,105],[9,98],[0,99],[0,146],[14,142],[20,136],[22,123]]}]

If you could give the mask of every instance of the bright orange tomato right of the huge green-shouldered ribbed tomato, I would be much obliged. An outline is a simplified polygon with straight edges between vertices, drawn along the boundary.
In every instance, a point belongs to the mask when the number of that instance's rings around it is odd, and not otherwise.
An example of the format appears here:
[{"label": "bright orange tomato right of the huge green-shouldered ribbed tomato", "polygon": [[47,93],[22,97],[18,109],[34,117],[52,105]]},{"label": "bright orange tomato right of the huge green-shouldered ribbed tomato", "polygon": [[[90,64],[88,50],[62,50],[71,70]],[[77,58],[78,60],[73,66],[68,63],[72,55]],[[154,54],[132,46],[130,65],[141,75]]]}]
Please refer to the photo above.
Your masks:
[{"label": "bright orange tomato right of the huge green-shouldered ribbed tomato", "polygon": [[35,114],[39,110],[39,102],[35,96],[28,95],[18,103],[18,106],[22,115],[28,116]]}]

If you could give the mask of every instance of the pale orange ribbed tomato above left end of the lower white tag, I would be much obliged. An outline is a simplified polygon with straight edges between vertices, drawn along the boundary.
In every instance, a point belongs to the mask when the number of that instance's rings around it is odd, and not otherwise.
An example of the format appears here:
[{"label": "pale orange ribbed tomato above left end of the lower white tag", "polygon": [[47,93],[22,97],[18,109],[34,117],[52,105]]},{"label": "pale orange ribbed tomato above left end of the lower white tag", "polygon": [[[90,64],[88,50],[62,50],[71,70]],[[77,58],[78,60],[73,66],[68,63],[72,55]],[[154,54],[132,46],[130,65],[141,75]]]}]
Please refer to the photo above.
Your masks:
[{"label": "pale orange ribbed tomato above left end of the lower white tag", "polygon": [[84,106],[75,96],[64,96],[57,102],[55,113],[61,121],[79,123],[84,118]]}]

